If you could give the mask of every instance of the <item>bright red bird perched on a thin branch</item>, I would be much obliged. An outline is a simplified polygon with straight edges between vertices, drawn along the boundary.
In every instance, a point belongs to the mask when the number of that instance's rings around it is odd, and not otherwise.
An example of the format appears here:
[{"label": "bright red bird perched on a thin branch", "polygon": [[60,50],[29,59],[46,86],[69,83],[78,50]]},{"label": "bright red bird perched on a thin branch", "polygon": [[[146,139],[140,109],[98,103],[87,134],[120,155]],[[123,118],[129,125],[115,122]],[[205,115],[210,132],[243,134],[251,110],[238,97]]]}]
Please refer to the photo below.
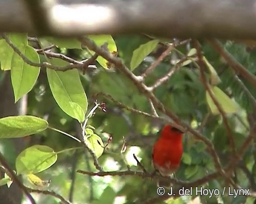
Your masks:
[{"label": "bright red bird perched on a thin branch", "polygon": [[162,176],[170,176],[180,166],[183,153],[183,132],[171,125],[165,125],[152,152],[152,163]]}]

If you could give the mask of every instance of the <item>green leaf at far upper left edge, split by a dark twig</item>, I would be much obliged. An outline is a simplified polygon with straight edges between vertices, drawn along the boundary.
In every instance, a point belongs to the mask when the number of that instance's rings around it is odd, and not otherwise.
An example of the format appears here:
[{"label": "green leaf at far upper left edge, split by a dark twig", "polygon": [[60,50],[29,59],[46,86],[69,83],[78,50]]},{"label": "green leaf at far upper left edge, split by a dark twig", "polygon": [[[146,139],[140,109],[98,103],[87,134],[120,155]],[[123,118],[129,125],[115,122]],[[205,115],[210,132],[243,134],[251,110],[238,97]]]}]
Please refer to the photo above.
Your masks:
[{"label": "green leaf at far upper left edge, split by a dark twig", "polygon": [[[28,44],[27,35],[20,33],[12,33],[6,35],[14,45],[20,49]],[[2,70],[10,70],[12,67],[13,49],[6,43],[4,39],[0,40],[0,62]]]}]

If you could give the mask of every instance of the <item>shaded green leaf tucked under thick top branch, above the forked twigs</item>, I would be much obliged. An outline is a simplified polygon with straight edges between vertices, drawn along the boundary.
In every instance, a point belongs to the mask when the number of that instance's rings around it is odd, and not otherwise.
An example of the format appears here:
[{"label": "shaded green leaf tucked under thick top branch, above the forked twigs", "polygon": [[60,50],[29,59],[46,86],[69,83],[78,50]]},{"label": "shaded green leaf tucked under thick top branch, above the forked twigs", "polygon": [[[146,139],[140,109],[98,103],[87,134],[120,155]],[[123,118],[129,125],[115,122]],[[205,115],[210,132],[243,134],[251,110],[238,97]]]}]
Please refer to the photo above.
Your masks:
[{"label": "shaded green leaf tucked under thick top branch, above the forked twigs", "polygon": [[44,39],[56,45],[57,47],[65,47],[68,49],[82,49],[81,43],[77,39],[56,37],[45,37]]}]

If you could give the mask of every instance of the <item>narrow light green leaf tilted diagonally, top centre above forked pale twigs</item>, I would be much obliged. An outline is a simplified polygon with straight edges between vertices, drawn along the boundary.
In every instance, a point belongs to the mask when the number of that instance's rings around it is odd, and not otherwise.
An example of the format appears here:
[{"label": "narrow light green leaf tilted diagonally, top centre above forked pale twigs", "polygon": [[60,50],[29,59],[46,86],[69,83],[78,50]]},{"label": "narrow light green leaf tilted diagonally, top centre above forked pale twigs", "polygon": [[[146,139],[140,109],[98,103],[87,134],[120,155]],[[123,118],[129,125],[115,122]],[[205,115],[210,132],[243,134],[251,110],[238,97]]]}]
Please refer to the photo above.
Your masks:
[{"label": "narrow light green leaf tilted diagonally, top centre above forked pale twigs", "polygon": [[136,50],[133,51],[131,63],[130,63],[130,69],[133,71],[136,67],[142,63],[144,58],[148,56],[157,46],[159,43],[159,40],[152,40],[148,43],[145,43],[143,45],[140,45]]}]

